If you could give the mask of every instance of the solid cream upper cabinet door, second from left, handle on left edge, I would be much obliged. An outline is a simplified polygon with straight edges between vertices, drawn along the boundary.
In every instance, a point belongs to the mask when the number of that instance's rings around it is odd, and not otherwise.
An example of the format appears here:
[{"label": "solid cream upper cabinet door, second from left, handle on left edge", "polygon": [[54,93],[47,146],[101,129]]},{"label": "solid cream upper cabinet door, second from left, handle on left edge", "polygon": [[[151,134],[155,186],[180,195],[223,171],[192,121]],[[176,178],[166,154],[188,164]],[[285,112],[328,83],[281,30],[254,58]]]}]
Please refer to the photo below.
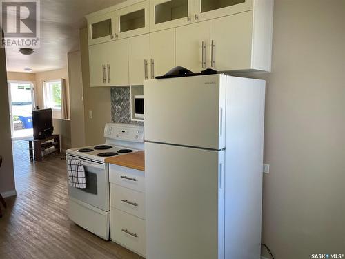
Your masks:
[{"label": "solid cream upper cabinet door, second from left, handle on left edge", "polygon": [[128,39],[107,43],[108,86],[128,86]]}]

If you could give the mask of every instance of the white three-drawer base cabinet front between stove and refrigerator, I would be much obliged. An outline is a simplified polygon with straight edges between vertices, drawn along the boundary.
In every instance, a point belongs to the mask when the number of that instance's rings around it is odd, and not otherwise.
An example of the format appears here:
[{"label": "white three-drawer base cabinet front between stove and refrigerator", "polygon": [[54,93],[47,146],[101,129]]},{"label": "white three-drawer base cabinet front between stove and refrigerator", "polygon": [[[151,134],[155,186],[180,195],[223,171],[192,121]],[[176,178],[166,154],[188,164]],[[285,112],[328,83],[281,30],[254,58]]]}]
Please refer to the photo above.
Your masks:
[{"label": "white three-drawer base cabinet front between stove and refrigerator", "polygon": [[146,257],[144,172],[110,164],[110,239]]}]

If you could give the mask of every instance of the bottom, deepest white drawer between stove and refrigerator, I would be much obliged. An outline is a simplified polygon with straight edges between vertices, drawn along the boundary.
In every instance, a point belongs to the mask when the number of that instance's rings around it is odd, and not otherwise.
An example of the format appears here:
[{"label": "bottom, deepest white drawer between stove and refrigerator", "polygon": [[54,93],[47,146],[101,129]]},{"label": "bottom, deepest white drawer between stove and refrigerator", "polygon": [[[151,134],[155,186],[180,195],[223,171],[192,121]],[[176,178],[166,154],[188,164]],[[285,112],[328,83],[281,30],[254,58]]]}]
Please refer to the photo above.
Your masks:
[{"label": "bottom, deepest white drawer between stove and refrigerator", "polygon": [[146,256],[146,221],[137,218],[119,209],[110,210],[111,227],[110,236],[112,241]]}]

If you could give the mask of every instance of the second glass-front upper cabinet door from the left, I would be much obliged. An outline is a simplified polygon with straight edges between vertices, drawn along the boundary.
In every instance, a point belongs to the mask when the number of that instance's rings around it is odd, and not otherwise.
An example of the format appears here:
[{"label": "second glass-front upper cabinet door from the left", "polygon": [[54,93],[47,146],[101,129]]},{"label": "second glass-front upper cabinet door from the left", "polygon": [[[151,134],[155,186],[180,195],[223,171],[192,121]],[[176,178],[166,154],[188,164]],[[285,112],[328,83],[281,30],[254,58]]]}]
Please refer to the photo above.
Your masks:
[{"label": "second glass-front upper cabinet door from the left", "polygon": [[142,35],[149,31],[149,2],[144,1],[115,11],[115,39]]}]

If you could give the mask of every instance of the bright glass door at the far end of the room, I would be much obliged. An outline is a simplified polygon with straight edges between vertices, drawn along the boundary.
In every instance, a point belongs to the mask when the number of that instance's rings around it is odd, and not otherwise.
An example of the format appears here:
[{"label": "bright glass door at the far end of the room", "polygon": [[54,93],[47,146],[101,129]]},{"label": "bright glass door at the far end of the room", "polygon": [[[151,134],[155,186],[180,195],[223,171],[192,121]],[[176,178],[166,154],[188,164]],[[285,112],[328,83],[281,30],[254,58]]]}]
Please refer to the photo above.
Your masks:
[{"label": "bright glass door at the far end of the room", "polygon": [[34,84],[30,81],[8,81],[12,140],[32,137]]}]

